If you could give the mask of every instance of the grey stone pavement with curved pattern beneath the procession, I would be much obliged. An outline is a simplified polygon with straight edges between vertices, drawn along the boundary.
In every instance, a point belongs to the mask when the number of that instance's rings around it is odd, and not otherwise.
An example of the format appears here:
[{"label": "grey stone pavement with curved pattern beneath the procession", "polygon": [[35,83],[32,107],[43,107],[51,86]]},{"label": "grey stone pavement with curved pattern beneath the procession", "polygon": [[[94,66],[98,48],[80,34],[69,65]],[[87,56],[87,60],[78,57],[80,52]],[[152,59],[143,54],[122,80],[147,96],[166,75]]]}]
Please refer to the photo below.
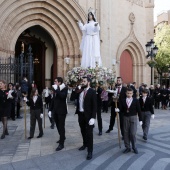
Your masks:
[{"label": "grey stone pavement with curved pattern beneath the procession", "polygon": [[[50,129],[46,110],[46,127],[44,136],[25,139],[24,119],[8,121],[9,136],[0,139],[0,170],[169,170],[170,169],[170,110],[155,110],[155,119],[151,120],[147,142],[142,139],[142,129],[138,125],[137,148],[139,154],[133,152],[123,154],[124,144],[119,148],[117,125],[106,134],[109,126],[109,113],[102,113],[103,135],[98,136],[97,123],[94,128],[93,159],[86,160],[87,151],[79,151],[82,146],[80,128],[74,106],[68,105],[66,118],[65,148],[56,152],[58,133],[56,128]],[[23,113],[23,110],[22,110]],[[27,136],[29,136],[29,112],[27,111]],[[0,122],[0,134],[2,124]]]}]

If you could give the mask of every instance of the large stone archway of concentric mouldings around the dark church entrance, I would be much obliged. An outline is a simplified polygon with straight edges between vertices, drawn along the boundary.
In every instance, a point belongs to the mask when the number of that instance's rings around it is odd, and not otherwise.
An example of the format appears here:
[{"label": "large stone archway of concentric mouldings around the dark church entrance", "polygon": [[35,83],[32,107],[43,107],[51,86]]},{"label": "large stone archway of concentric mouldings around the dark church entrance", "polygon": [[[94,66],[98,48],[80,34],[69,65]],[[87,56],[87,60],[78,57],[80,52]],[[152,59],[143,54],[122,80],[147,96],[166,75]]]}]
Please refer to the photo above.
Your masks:
[{"label": "large stone archway of concentric mouldings around the dark church entrance", "polygon": [[[70,56],[70,67],[79,64],[81,31],[75,19],[86,20],[81,7],[72,0],[10,0],[4,1],[0,11],[0,55],[14,55],[19,35],[29,27],[39,25],[53,38],[57,47],[57,72],[63,76],[64,57]],[[64,66],[64,67],[63,67]]]}]

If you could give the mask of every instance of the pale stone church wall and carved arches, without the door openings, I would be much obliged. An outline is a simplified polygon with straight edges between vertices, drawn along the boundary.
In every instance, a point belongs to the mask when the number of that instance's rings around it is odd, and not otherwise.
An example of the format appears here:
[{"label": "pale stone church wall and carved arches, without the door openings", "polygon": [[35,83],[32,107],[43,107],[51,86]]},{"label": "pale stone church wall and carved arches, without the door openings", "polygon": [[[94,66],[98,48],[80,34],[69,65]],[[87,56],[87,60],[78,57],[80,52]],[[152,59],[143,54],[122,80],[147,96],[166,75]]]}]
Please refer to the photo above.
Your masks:
[{"label": "pale stone church wall and carved arches, without the door openings", "polygon": [[[112,59],[119,63],[121,53],[127,49],[133,54],[136,74],[133,81],[137,84],[147,83],[150,78],[149,75],[143,76],[147,72],[144,48],[146,40],[153,38],[153,6],[153,1],[149,0],[1,0],[0,55],[14,56],[19,35],[26,29],[39,25],[50,34],[56,46],[54,71],[57,75],[64,76],[66,56],[70,57],[70,68],[80,65],[82,34],[75,19],[81,19],[85,23],[87,11],[92,7],[96,9],[96,17],[101,26],[103,65],[111,68]],[[127,16],[130,13],[134,15],[130,15],[129,23]],[[134,25],[133,31],[131,24]],[[119,64],[116,72],[119,75]]]}]

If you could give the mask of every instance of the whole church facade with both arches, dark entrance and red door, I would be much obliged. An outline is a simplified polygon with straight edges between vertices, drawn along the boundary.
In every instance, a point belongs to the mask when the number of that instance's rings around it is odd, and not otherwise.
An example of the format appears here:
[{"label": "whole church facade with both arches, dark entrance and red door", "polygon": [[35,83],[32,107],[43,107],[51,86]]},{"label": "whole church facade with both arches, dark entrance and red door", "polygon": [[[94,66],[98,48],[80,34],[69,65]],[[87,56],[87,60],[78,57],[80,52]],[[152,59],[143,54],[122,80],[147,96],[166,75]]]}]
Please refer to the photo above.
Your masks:
[{"label": "whole church facade with both arches, dark entrance and red door", "polygon": [[31,44],[39,60],[34,80],[50,86],[68,67],[80,66],[82,33],[76,20],[86,23],[90,7],[101,27],[103,66],[116,63],[116,75],[125,83],[149,84],[145,44],[154,37],[154,0],[0,0],[0,57],[17,57],[21,46],[26,53]]}]

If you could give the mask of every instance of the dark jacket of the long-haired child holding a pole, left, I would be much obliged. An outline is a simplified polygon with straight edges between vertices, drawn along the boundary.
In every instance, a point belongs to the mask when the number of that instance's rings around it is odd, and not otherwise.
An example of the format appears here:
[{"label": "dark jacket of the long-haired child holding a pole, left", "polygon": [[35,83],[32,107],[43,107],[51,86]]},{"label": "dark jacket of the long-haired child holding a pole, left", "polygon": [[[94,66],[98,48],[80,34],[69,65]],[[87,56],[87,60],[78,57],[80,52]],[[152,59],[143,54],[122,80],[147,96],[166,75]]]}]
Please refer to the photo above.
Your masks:
[{"label": "dark jacket of the long-haired child holding a pole, left", "polygon": [[30,98],[29,101],[27,101],[27,105],[30,106],[30,110],[40,109],[41,113],[43,113],[43,102],[42,102],[42,98],[40,96],[38,96],[35,103],[34,103],[33,99]]}]

